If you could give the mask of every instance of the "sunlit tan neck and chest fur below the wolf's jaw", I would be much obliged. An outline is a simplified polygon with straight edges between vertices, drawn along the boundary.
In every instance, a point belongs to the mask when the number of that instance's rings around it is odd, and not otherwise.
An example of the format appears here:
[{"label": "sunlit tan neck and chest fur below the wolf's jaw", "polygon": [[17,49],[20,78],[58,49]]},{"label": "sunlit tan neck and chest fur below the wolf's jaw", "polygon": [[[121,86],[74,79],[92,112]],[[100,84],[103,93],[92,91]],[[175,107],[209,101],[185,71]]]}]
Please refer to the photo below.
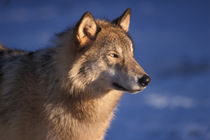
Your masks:
[{"label": "sunlit tan neck and chest fur below the wolf's jaw", "polygon": [[103,139],[121,96],[121,92],[110,91],[102,97],[88,100],[63,96],[65,99],[60,102],[56,98],[57,105],[49,104],[48,122],[53,125],[52,133],[57,133],[59,139]]}]

